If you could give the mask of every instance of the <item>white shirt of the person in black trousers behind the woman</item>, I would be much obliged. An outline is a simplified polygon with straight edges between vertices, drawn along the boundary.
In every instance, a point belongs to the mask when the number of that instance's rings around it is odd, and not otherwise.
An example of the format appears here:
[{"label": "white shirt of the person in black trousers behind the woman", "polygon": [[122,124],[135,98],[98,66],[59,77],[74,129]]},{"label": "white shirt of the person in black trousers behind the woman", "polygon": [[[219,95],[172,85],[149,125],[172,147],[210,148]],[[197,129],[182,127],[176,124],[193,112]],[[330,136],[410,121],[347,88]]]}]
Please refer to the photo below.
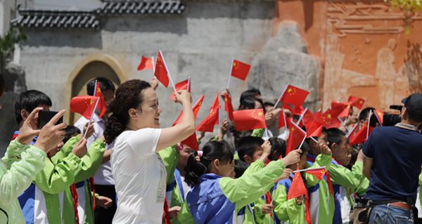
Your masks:
[{"label": "white shirt of the person in black trousers behind the woman", "polygon": [[[98,117],[97,114],[94,114],[94,133],[91,137],[87,139],[87,147],[89,148],[89,145],[94,143],[94,141],[97,138],[100,138],[103,136],[104,130],[106,129],[106,124],[104,123],[104,120]],[[81,132],[84,130],[84,125],[88,123],[88,119],[84,117],[80,117],[76,123],[75,126],[81,130]],[[107,150],[113,149],[113,143],[106,145]],[[101,164],[100,168],[96,171],[94,175],[94,181],[96,185],[114,185],[113,180],[113,174],[111,173],[111,163],[106,162],[105,164]]]}]

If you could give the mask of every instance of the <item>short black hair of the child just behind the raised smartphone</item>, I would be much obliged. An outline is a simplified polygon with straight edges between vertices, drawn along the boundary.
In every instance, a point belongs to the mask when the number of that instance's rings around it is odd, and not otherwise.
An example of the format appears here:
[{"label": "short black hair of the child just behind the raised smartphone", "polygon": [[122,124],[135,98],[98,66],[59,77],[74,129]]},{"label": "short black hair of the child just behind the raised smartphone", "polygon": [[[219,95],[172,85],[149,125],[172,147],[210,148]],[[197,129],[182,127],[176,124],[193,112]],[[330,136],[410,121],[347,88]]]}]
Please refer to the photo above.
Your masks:
[{"label": "short black hair of the child just behind the raised smartphone", "polygon": [[51,107],[51,99],[46,93],[37,90],[29,90],[23,93],[20,93],[15,100],[15,119],[18,124],[23,121],[22,116],[20,116],[21,110],[26,110],[28,113],[32,112],[35,108],[39,106],[46,105]]}]

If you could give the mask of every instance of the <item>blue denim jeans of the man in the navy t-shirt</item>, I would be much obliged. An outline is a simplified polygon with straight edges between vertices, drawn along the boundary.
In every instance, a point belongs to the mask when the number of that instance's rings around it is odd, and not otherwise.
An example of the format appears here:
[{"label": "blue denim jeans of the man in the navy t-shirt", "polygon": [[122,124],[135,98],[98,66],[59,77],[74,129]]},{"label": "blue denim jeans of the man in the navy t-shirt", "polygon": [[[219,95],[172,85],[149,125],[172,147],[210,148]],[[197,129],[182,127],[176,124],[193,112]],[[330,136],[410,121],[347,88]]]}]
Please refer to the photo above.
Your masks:
[{"label": "blue denim jeans of the man in the navy t-shirt", "polygon": [[381,204],[373,207],[369,224],[410,224],[414,223],[414,216],[411,210],[397,208],[388,204]]}]

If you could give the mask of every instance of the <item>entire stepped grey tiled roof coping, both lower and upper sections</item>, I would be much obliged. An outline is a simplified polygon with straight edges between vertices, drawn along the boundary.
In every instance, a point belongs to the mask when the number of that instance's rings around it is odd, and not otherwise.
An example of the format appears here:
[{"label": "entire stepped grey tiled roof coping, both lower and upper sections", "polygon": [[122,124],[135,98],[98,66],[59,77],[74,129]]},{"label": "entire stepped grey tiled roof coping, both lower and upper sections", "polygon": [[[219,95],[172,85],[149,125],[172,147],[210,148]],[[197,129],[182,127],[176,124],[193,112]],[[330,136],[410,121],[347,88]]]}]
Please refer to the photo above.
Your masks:
[{"label": "entire stepped grey tiled roof coping, both lower and upper sections", "polygon": [[46,29],[99,29],[100,18],[107,15],[181,14],[185,5],[179,0],[103,1],[94,11],[41,11],[19,9],[13,27]]}]

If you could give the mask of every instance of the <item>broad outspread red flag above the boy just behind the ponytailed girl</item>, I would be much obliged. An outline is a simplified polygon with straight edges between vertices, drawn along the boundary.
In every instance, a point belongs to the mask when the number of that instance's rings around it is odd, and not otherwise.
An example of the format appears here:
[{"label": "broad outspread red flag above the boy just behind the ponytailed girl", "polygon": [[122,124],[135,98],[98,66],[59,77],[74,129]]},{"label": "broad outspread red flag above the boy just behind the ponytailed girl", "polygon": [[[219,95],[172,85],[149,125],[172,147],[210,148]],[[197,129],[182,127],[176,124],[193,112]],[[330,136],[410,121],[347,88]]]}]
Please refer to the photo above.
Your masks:
[{"label": "broad outspread red flag above the boy just behind the ponytailed girl", "polygon": [[238,110],[233,112],[234,126],[236,131],[246,131],[252,129],[265,129],[264,110]]}]

